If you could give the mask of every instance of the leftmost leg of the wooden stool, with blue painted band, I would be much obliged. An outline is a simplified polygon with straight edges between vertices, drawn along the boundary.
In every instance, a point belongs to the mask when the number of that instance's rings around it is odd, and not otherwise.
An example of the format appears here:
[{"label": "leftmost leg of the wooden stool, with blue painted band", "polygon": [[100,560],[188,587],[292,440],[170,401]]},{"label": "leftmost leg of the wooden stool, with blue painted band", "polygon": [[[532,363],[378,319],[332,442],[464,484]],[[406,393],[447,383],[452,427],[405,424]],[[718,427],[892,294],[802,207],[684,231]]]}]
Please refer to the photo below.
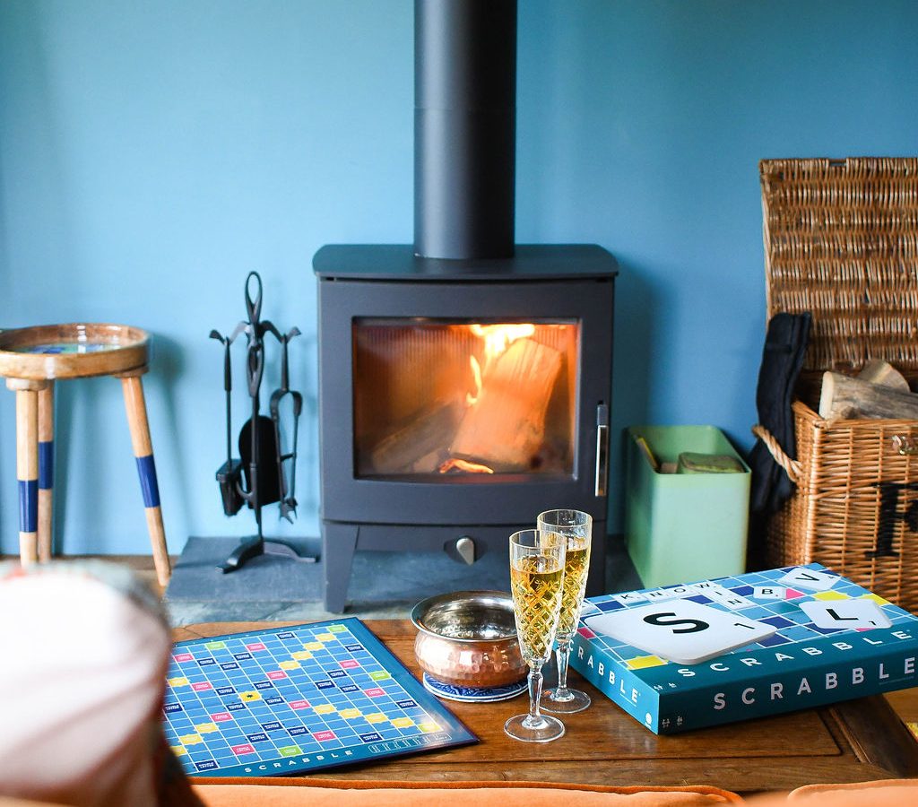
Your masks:
[{"label": "leftmost leg of the wooden stool, with blue painted band", "polygon": [[44,382],[7,378],[16,390],[16,478],[19,488],[19,560],[39,559],[39,389]]}]

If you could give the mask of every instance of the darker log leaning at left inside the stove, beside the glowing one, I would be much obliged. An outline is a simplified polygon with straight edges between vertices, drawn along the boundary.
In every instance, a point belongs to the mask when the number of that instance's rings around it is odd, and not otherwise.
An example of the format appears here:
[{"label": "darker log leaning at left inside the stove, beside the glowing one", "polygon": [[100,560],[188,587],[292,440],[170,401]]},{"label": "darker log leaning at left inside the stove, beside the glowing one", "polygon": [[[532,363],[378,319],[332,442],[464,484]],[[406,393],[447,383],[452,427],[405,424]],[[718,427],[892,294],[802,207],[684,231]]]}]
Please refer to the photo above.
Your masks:
[{"label": "darker log leaning at left inside the stove, beside the glowing one", "polygon": [[377,474],[431,474],[441,465],[446,446],[462,417],[457,401],[435,401],[409,423],[376,443],[370,456]]}]

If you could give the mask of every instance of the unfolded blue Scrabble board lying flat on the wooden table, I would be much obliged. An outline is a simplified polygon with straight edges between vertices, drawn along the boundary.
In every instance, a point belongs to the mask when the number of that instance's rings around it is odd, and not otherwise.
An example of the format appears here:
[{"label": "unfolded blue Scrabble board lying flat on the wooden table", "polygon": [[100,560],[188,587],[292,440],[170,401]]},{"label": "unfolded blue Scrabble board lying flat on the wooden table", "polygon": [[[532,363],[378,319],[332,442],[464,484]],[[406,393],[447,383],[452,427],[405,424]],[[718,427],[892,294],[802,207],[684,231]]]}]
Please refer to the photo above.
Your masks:
[{"label": "unfolded blue Scrabble board lying flat on the wooden table", "polygon": [[304,773],[477,741],[353,617],[175,644],[163,717],[192,776]]}]

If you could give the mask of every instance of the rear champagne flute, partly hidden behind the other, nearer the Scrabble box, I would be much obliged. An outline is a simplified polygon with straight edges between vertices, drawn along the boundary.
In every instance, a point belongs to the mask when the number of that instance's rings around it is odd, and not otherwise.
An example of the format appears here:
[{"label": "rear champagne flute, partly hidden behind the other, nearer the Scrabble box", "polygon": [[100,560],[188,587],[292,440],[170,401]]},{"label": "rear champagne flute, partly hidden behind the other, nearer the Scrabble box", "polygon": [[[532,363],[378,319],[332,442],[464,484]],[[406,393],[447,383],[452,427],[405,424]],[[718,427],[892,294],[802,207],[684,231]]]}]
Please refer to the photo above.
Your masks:
[{"label": "rear champagne flute, partly hidden behind the other, nearer the Scrabble box", "polygon": [[567,686],[567,663],[571,655],[571,643],[577,630],[580,608],[587,591],[589,570],[589,544],[593,531],[593,519],[580,510],[545,510],[537,521],[542,534],[560,535],[566,542],[565,580],[561,596],[561,614],[555,638],[554,651],[558,664],[558,685],[546,689],[542,696],[545,712],[570,714],[583,712],[589,704],[589,695],[579,689]]}]

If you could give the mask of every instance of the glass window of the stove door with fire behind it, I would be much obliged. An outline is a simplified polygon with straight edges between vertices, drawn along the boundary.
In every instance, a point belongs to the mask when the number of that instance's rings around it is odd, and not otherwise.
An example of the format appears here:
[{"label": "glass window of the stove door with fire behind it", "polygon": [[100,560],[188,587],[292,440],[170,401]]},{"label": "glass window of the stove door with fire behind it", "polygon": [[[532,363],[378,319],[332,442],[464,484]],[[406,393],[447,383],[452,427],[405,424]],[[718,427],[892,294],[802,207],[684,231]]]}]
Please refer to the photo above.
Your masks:
[{"label": "glass window of the stove door with fire behind it", "polygon": [[573,476],[576,320],[353,319],[355,474]]}]

